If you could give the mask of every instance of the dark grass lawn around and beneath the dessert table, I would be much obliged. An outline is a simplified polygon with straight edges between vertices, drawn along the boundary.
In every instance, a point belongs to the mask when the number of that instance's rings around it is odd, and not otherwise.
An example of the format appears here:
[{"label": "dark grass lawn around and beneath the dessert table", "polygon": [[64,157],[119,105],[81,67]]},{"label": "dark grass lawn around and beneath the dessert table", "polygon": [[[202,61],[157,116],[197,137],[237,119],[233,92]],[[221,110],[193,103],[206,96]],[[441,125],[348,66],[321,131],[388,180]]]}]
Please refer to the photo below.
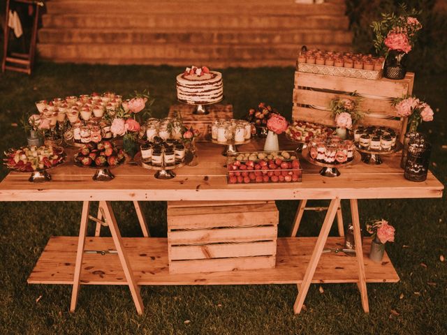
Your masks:
[{"label": "dark grass lawn around and beneath the dessert table", "polygon": [[[38,64],[32,77],[0,74],[0,149],[25,144],[16,123],[34,101],[91,91],[130,94],[149,88],[153,114],[166,116],[175,103],[175,75],[168,66]],[[223,70],[226,102],[235,115],[265,101],[291,116],[293,68]],[[446,75],[416,76],[415,93],[434,109],[421,128],[433,143],[432,171],[447,177]],[[0,179],[7,170],[0,168]],[[161,181],[162,182],[162,181]],[[293,315],[295,285],[142,287],[145,315],[138,316],[126,287],[83,286],[76,313],[71,287],[28,285],[27,276],[51,235],[77,235],[80,202],[0,203],[0,334],[446,334],[446,197],[440,200],[361,200],[360,219],[386,218],[397,230],[387,250],[401,281],[368,284],[365,314],[355,284],[312,285],[306,311]],[[279,234],[290,229],[297,202],[277,202]],[[347,202],[345,213],[349,213]],[[130,202],[115,202],[122,234],[140,236]],[[145,203],[152,236],[166,236],[166,204]],[[318,234],[322,213],[305,214],[300,235]],[[349,218],[345,217],[345,224]],[[90,227],[92,233],[93,225]],[[335,235],[336,227],[331,234]],[[185,322],[189,320],[189,322]]]}]

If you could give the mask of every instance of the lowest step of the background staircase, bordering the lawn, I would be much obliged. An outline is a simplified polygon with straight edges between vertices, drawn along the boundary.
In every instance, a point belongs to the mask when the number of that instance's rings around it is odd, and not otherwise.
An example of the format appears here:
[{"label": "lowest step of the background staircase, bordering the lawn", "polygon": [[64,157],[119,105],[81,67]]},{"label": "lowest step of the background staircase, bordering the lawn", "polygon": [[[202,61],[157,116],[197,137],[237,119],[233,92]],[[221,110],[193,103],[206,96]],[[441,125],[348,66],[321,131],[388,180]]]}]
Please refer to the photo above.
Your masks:
[{"label": "lowest step of the background staircase, bordering the lawn", "polygon": [[[103,64],[168,64],[189,66],[295,66],[301,45],[193,45],[191,44],[38,44],[43,59]],[[347,51],[350,45],[309,45],[326,50]],[[199,65],[200,65],[199,64]]]}]

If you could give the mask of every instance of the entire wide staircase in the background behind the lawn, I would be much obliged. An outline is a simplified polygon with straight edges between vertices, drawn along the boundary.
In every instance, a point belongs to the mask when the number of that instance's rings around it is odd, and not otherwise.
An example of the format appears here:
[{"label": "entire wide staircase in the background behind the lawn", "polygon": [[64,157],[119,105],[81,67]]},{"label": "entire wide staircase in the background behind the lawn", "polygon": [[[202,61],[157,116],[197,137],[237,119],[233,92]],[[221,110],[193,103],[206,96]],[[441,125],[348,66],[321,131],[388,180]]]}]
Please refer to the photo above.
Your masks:
[{"label": "entire wide staircase in the background behind the lawn", "polygon": [[350,50],[344,0],[50,0],[38,54],[59,62],[294,66],[302,45]]}]

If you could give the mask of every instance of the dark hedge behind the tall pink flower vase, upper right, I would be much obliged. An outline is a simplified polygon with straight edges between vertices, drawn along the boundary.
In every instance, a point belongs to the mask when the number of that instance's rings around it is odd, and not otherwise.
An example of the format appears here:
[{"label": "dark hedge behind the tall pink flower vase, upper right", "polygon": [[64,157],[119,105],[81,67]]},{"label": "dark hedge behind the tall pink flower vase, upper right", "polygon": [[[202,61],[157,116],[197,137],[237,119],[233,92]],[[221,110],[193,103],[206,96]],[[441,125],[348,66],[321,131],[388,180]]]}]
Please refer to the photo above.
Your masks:
[{"label": "dark hedge behind the tall pink flower vase, upper right", "polygon": [[[404,1],[408,8],[422,10],[418,20],[423,24],[419,39],[409,53],[409,70],[429,73],[447,70],[447,12],[439,10],[436,0]],[[381,13],[398,12],[402,1],[394,0],[346,0],[347,15],[353,31],[353,48],[356,52],[372,52],[374,38],[371,22],[380,20]]]}]

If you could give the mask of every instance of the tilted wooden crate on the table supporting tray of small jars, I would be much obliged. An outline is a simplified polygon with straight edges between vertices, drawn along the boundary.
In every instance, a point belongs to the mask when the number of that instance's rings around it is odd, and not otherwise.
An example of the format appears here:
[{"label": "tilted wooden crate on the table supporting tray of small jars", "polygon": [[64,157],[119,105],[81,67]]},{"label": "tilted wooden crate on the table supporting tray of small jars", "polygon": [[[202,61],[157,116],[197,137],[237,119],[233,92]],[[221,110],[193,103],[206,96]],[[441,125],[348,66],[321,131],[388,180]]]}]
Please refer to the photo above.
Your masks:
[{"label": "tilted wooden crate on the table supporting tray of small jars", "polygon": [[[330,110],[311,107],[329,107],[333,98],[353,98],[350,94],[366,94],[371,98],[356,96],[359,99],[359,111],[365,113],[360,124],[365,126],[386,126],[400,134],[402,142],[406,132],[406,118],[395,114],[391,101],[380,97],[400,98],[413,91],[414,73],[407,73],[403,80],[367,80],[314,73],[295,72],[293,88],[293,119],[316,122],[326,126],[335,126]],[[376,98],[373,98],[376,97]],[[384,118],[388,117],[388,118]]]}]

